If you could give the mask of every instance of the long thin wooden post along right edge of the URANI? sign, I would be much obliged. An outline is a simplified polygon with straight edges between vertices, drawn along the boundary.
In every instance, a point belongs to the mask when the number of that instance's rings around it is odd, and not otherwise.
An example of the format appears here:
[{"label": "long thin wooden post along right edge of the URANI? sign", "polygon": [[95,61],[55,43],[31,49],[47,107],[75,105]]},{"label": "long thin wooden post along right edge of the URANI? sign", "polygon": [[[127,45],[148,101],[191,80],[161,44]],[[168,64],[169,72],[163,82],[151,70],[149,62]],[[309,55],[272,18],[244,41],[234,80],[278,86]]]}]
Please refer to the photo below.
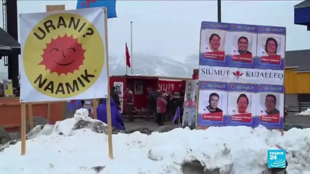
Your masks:
[{"label": "long thin wooden post along right edge of the URANI? sign", "polygon": [[112,144],[112,123],[111,123],[111,103],[110,103],[110,75],[109,75],[109,39],[108,39],[108,13],[107,8],[104,7],[105,11],[105,34],[106,34],[106,52],[107,52],[107,70],[108,70],[108,98],[107,98],[107,121],[108,121],[108,143],[109,143],[109,157],[110,159],[114,159],[113,157],[113,144]]}]

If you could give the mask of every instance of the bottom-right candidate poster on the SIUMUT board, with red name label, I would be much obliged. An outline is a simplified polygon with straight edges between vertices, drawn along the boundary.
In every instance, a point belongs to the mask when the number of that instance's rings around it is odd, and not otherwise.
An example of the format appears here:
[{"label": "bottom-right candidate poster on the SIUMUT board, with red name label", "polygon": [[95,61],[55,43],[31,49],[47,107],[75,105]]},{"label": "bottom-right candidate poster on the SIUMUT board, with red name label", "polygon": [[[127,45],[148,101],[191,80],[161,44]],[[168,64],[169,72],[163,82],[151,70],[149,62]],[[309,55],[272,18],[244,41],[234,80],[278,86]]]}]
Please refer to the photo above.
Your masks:
[{"label": "bottom-right candidate poster on the SIUMUT board, with red name label", "polygon": [[259,124],[271,129],[283,128],[284,117],[284,88],[282,85],[260,84],[259,105],[256,113],[260,117]]}]

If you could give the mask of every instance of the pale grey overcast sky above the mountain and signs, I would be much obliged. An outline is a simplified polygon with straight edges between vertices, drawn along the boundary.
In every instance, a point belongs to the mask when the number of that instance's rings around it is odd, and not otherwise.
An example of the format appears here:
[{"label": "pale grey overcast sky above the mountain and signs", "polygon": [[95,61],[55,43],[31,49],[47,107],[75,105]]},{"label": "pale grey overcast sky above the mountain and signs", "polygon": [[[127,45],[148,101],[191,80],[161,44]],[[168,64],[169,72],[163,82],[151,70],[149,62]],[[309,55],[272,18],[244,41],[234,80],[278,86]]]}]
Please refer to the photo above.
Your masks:
[{"label": "pale grey overcast sky above the mountain and signs", "polygon": [[[285,26],[287,50],[309,49],[310,45],[306,43],[310,33],[305,26],[294,25],[294,5],[300,2],[223,1],[222,22]],[[76,7],[76,1],[18,1],[18,13],[44,12],[46,5],[61,4],[67,10]],[[109,19],[108,26],[111,68],[116,69],[117,74],[124,74],[125,42],[130,48],[130,21],[133,21],[134,73],[141,71],[144,74],[146,69],[154,68],[136,70],[143,62],[159,57],[166,62],[179,62],[188,71],[182,74],[179,73],[185,70],[155,72],[174,76],[189,76],[192,69],[198,67],[200,23],[217,21],[216,1],[117,1],[116,10],[119,17]],[[163,61],[160,63],[164,64]],[[154,72],[146,74],[151,73]]]}]

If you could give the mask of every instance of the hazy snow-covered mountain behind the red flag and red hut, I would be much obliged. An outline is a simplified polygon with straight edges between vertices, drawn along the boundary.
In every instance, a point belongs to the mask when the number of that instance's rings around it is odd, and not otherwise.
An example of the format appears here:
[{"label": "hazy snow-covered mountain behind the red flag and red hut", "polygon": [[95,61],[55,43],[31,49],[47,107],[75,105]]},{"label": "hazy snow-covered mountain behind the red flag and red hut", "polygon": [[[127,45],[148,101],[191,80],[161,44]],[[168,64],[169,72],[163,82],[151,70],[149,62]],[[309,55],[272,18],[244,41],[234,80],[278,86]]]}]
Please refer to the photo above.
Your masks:
[{"label": "hazy snow-covered mountain behind the red flag and red hut", "polygon": [[[134,74],[191,77],[193,69],[198,68],[198,55],[189,55],[185,59],[176,60],[172,57],[137,53],[133,57],[132,66]],[[110,75],[124,75],[125,57],[110,55],[109,68]],[[130,68],[127,74],[131,74]]]}]

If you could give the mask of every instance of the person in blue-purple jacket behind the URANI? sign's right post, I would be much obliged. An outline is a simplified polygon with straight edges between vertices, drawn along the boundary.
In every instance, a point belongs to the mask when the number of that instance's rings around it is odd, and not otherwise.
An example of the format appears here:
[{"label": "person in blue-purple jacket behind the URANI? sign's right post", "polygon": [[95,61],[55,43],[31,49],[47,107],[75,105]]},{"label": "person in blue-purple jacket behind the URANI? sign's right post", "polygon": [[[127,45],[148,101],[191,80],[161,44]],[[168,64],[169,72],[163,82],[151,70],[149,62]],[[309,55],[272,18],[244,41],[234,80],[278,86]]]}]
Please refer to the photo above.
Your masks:
[{"label": "person in blue-purple jacket behind the URANI? sign's right post", "polygon": [[[123,119],[114,103],[113,99],[111,98],[111,123],[112,127],[118,130],[125,130]],[[97,118],[101,122],[108,124],[107,119],[107,99],[103,99],[102,103],[99,104],[97,107]]]}]

